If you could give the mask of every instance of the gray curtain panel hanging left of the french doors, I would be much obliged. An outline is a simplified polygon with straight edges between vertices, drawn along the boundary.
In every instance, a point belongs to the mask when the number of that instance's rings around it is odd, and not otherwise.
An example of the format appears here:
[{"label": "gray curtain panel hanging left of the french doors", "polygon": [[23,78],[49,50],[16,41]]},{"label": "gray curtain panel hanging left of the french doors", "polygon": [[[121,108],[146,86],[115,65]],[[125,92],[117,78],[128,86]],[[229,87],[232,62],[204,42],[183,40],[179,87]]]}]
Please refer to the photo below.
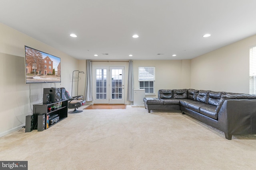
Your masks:
[{"label": "gray curtain panel hanging left of the french doors", "polygon": [[92,62],[86,60],[86,87],[85,87],[85,101],[92,101]]}]

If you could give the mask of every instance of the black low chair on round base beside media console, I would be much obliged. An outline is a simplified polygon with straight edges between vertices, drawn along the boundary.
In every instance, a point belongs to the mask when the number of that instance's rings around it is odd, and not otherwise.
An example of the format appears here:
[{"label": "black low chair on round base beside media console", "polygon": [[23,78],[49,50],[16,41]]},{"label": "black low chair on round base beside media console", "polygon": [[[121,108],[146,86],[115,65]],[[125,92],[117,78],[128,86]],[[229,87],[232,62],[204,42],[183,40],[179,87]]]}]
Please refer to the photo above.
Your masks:
[{"label": "black low chair on round base beside media console", "polygon": [[73,98],[70,97],[68,91],[65,88],[61,89],[61,97],[62,99],[68,99],[68,108],[74,109],[73,111],[69,111],[68,113],[80,113],[82,110],[77,110],[78,107],[83,106],[86,102],[83,100],[84,96],[74,96]]}]

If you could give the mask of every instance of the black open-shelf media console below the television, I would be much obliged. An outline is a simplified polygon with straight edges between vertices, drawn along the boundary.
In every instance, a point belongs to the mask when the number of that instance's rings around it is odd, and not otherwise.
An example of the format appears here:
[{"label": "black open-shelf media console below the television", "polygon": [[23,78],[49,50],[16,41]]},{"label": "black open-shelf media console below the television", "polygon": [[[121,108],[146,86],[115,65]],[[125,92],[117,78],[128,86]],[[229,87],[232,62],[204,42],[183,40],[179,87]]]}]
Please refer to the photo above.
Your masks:
[{"label": "black open-shelf media console below the television", "polygon": [[43,131],[68,117],[68,100],[33,105],[35,129]]}]

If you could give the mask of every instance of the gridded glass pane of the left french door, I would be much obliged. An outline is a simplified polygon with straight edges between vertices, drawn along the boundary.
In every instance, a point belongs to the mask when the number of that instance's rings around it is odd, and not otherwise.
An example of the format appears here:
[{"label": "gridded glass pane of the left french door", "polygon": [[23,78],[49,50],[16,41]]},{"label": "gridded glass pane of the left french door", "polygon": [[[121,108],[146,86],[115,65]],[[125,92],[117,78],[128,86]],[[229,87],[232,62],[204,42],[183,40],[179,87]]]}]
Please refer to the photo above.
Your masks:
[{"label": "gridded glass pane of the left french door", "polygon": [[96,99],[106,99],[107,69],[96,69]]}]

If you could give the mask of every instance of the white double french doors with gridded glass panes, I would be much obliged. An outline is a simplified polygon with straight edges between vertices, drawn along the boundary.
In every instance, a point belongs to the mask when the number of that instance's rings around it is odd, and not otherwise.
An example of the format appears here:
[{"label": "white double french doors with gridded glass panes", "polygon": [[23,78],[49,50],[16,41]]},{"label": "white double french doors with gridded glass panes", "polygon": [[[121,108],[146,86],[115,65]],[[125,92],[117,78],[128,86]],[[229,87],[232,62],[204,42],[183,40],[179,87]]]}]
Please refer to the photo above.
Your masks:
[{"label": "white double french doors with gridded glass panes", "polygon": [[124,66],[92,68],[93,104],[124,104]]}]

